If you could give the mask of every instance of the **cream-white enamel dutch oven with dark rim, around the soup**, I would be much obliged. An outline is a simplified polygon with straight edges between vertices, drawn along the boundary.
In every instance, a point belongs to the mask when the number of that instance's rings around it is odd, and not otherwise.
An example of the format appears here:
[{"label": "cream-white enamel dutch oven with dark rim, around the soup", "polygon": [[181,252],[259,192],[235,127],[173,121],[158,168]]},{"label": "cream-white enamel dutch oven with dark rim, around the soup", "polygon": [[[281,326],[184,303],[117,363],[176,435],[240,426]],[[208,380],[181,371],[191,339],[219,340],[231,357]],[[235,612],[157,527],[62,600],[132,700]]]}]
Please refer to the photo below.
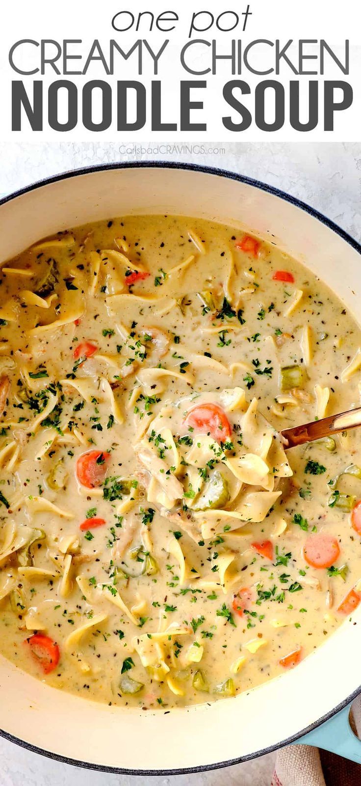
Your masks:
[{"label": "cream-white enamel dutch oven with dark rim, around the soup", "polygon": [[[192,215],[245,227],[308,266],[359,316],[356,241],[285,193],[206,167],[115,164],[32,185],[0,201],[0,260],[57,230],[129,213]],[[361,761],[361,744],[352,740],[346,719],[340,724],[361,690],[360,652],[361,606],[351,622],[282,677],[234,699],[170,712],[106,707],[71,696],[0,657],[0,729],[9,740],[72,764],[162,774],[235,764],[300,741],[305,733],[302,741],[318,744],[323,724],[323,747]]]}]

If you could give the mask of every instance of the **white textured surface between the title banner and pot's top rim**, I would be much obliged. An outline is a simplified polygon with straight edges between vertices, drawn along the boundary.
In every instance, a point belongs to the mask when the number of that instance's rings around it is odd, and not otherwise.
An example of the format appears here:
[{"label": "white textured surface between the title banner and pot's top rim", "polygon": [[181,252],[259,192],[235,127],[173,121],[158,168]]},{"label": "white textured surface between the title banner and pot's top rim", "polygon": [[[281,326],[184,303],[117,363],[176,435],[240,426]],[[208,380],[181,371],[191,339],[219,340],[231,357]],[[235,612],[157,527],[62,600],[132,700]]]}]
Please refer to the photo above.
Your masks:
[{"label": "white textured surface between the title banner and pot's top rim", "polygon": [[[201,145],[143,142],[106,145],[101,142],[0,144],[0,193],[9,193],[35,180],[70,169],[126,160],[179,160],[231,169],[299,197],[348,230],[361,236],[361,144],[348,143],[233,143],[220,142],[221,155],[197,152]],[[157,152],[157,147],[160,151]],[[166,148],[170,152],[163,152]],[[213,148],[215,145],[213,145]],[[138,152],[144,149],[149,152]],[[151,152],[151,149],[155,152]],[[212,148],[210,148],[212,150]]]}]

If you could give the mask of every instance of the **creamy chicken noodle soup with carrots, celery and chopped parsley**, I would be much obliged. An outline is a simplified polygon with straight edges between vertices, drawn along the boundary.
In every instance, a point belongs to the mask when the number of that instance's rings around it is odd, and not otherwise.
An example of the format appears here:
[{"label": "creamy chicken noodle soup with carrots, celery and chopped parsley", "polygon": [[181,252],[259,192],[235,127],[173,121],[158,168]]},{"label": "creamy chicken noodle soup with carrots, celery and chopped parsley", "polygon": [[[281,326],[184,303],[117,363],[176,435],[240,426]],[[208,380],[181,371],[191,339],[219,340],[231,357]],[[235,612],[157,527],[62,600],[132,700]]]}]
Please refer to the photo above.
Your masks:
[{"label": "creamy chicken noodle soup with carrots, celery and chopped parsley", "polygon": [[[295,667],[361,598],[359,403],[337,296],[230,226],[130,216],[0,273],[0,651],[173,707]],[[348,624],[348,623],[345,623]]]}]

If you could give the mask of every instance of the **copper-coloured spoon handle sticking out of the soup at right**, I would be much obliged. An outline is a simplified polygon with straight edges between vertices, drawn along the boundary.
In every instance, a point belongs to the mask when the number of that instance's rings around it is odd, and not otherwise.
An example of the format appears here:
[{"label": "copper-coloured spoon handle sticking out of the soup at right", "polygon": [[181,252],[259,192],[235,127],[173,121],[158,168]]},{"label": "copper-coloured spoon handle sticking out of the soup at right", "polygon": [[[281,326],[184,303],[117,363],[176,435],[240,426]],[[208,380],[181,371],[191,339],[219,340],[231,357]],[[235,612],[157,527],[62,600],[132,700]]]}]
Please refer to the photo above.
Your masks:
[{"label": "copper-coloured spoon handle sticking out of the soup at right", "polygon": [[281,435],[285,440],[284,447],[287,450],[287,448],[296,445],[314,442],[315,439],[331,437],[338,432],[345,432],[349,428],[356,428],[356,426],[361,426],[361,406],[356,410],[323,417],[320,421],[304,423],[301,426],[294,426],[294,428],[285,428]]}]

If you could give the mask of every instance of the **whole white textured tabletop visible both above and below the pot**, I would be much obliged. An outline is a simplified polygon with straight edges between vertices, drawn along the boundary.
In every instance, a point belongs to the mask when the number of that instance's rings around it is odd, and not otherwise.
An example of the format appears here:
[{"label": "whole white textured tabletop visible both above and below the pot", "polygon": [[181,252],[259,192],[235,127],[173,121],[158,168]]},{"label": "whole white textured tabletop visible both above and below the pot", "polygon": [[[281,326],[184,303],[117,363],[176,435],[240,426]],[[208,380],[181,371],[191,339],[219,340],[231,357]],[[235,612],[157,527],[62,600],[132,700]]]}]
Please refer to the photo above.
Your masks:
[{"label": "whole white textured tabletop visible both above and below the pot", "polygon": [[[156,148],[151,143],[153,149]],[[181,160],[238,171],[297,196],[337,222],[357,240],[361,237],[361,145],[348,144],[228,144],[222,154],[182,151],[170,144],[151,152],[124,152],[119,145],[0,144],[0,193],[9,193],[35,180],[62,171],[119,160]],[[131,149],[132,143],[124,145]],[[162,148],[164,145],[162,145]],[[206,148],[207,146],[204,145]],[[220,729],[221,734],[221,729]],[[121,744],[121,740],[119,740]],[[180,740],[180,744],[182,744]],[[268,786],[274,755],[211,773],[175,777],[127,777],[94,773],[52,762],[0,739],[1,786]],[[137,766],[137,762],[134,762]]]}]

